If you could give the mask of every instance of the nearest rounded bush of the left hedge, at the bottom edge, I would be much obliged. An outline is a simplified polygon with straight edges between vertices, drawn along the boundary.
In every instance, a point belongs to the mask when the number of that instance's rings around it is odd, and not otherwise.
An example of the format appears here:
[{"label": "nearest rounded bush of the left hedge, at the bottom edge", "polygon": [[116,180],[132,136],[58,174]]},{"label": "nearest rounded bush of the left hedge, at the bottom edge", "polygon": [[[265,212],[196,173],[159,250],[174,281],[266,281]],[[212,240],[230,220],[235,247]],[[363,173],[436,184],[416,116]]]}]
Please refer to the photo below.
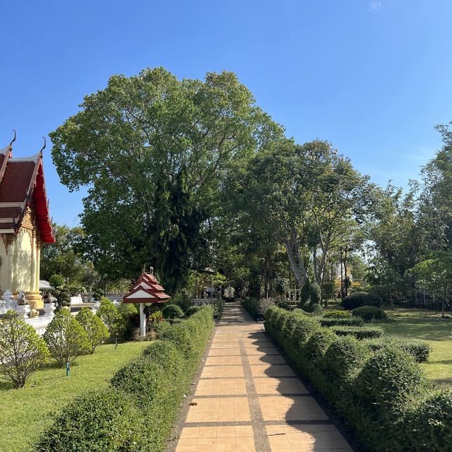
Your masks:
[{"label": "nearest rounded bush of the left hedge, at the bottom edge", "polygon": [[93,391],[75,398],[35,444],[35,452],[136,451],[139,412],[123,393]]}]

